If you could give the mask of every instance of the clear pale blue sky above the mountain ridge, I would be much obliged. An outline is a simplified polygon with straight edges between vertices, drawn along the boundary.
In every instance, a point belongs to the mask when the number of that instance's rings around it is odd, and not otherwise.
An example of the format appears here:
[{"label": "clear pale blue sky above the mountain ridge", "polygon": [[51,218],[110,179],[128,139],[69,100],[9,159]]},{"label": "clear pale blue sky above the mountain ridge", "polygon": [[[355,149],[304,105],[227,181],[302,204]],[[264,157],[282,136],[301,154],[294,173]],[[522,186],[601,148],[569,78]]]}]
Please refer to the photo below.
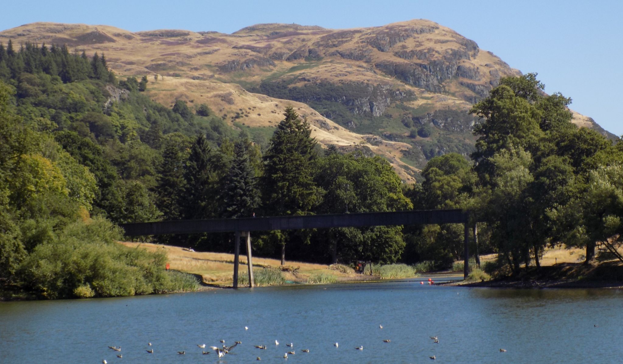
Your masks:
[{"label": "clear pale blue sky above the mountain ridge", "polygon": [[623,2],[619,1],[7,1],[0,30],[36,21],[106,24],[128,31],[231,33],[283,22],[332,29],[429,19],[490,50],[521,72],[538,72],[548,93],[623,134]]}]

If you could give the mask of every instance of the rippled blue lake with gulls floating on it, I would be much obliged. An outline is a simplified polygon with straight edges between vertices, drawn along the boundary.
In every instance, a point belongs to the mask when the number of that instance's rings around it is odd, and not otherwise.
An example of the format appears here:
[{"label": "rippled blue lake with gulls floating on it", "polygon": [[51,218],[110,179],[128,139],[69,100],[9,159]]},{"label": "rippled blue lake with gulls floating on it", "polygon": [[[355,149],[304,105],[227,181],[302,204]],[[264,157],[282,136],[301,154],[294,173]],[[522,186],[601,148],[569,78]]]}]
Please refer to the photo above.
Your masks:
[{"label": "rippled blue lake with gulls floating on it", "polygon": [[622,323],[622,290],[417,280],[0,302],[0,363],[619,363]]}]

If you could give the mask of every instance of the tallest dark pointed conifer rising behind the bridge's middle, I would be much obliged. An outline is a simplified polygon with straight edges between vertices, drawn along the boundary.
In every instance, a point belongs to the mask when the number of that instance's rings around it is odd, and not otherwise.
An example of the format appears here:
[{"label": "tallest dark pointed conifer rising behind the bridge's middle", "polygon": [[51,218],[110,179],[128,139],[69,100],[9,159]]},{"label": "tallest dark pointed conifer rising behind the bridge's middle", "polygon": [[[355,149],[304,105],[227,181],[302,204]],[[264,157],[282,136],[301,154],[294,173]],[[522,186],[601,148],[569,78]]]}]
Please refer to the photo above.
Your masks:
[{"label": "tallest dark pointed conifer rising behind the bridge's middle", "polygon": [[[313,181],[316,140],[309,123],[292,107],[283,113],[264,156],[262,196],[264,213],[269,215],[308,214],[321,201],[322,191]],[[281,262],[285,264],[284,235],[278,235]]]}]

